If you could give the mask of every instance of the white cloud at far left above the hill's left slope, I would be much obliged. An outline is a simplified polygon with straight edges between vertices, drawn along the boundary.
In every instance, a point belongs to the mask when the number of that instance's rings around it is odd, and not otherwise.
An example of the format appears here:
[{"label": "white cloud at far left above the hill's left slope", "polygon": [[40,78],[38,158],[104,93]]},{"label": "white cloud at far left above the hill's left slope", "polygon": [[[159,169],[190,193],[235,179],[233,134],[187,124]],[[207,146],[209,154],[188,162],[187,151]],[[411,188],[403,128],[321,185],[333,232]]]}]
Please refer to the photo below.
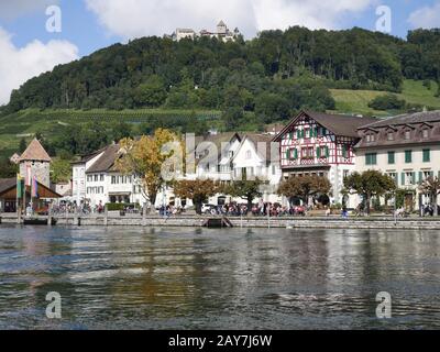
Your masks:
[{"label": "white cloud at far left above the hill's left slope", "polygon": [[67,41],[33,41],[22,48],[0,28],[0,106],[8,103],[12,89],[28,79],[78,58],[78,48]]}]

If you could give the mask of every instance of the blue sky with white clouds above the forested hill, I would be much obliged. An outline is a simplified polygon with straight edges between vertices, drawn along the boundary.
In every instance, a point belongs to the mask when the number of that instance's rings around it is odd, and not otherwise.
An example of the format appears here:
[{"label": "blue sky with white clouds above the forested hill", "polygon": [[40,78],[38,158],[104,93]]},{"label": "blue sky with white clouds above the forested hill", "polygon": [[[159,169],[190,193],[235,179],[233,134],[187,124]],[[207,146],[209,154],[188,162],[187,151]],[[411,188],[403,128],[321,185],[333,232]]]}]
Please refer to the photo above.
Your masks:
[{"label": "blue sky with white clouds above the forested hill", "polygon": [[405,38],[409,30],[440,28],[440,0],[0,0],[0,106],[56,65],[176,28],[213,31],[220,20],[245,38],[292,25]]}]

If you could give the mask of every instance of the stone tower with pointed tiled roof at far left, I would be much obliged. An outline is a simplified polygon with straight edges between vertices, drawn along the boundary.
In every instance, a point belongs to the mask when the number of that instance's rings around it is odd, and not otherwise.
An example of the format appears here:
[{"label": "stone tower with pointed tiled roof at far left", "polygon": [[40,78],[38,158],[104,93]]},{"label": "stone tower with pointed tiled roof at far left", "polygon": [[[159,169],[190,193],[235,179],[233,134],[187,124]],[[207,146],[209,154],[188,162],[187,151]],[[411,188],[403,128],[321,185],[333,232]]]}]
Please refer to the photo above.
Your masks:
[{"label": "stone tower with pointed tiled roof at far left", "polygon": [[36,180],[46,186],[51,187],[51,157],[44,150],[43,145],[34,139],[24,153],[21,155],[20,163],[20,175],[26,176],[28,167],[31,168],[31,175],[36,177]]}]

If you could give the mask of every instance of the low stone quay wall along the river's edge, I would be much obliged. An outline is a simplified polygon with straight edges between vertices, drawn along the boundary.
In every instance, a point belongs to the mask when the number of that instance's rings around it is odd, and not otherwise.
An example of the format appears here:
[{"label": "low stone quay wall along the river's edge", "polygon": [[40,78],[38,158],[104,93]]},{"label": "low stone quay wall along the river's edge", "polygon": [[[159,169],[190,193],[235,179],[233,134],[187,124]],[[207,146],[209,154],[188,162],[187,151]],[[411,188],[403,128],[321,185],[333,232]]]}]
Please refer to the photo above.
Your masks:
[{"label": "low stone quay wall along the river's edge", "polygon": [[[33,220],[48,221],[50,217],[32,217]],[[65,215],[54,216],[51,220],[56,226],[80,227],[202,227],[208,219],[221,219],[212,216],[142,216],[119,213],[106,215]],[[440,230],[440,218],[403,218],[393,217],[362,217],[343,219],[340,216],[331,217],[230,217],[228,218],[234,228],[279,228],[279,229],[377,229],[377,230]],[[1,224],[22,224],[16,213],[0,213]]]}]

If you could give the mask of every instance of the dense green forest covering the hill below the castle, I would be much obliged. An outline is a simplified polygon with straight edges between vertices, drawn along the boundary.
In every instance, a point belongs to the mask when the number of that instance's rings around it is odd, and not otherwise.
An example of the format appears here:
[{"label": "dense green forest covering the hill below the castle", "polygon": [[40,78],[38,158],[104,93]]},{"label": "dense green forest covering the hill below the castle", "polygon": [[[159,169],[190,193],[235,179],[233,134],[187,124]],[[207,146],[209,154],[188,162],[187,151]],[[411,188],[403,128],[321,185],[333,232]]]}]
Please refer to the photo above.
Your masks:
[{"label": "dense green forest covering the hill below the castle", "polygon": [[[405,78],[440,80],[440,30],[408,40],[361,29],[267,31],[252,41],[144,37],[56,67],[14,91],[3,113],[28,108],[244,111],[262,122],[301,108],[332,110],[329,89],[400,92]],[[227,117],[228,123],[228,117]]]}]

